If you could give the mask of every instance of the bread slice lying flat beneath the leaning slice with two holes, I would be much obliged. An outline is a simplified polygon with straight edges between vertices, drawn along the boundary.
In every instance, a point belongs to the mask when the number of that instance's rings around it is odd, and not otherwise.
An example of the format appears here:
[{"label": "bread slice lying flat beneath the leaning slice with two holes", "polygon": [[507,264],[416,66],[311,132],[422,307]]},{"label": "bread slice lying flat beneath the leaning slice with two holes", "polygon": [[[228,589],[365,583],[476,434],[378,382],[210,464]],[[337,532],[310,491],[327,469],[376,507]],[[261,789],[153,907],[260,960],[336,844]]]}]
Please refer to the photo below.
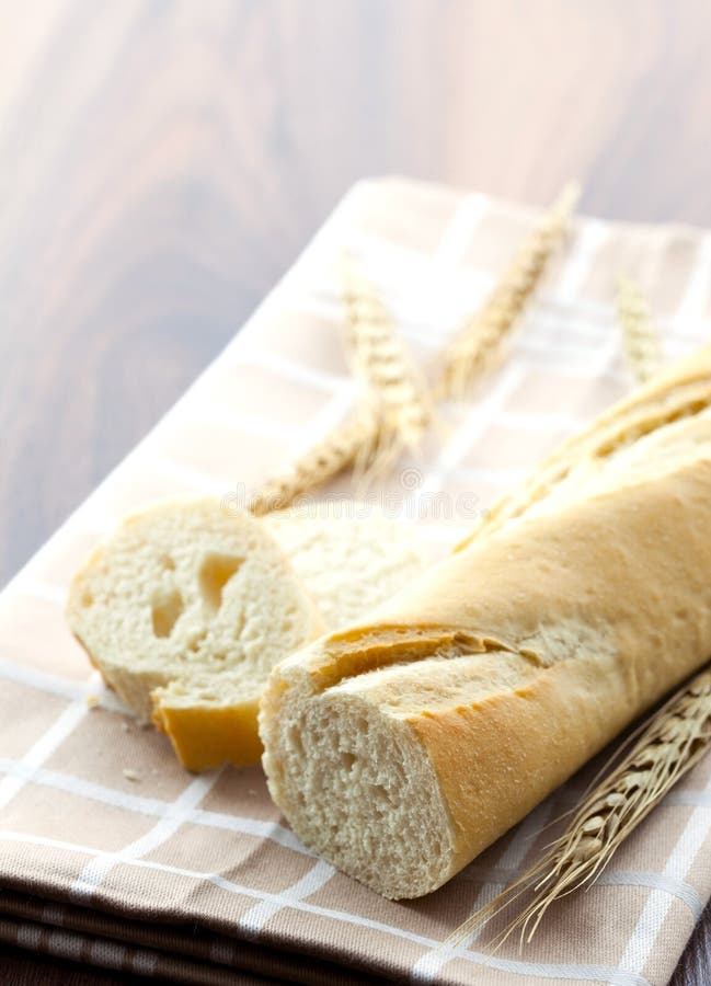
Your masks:
[{"label": "bread slice lying flat beneath the leaning slice with two holes", "polygon": [[[329,628],[346,626],[402,588],[423,567],[412,532],[372,507],[323,502],[259,523],[274,537]],[[257,763],[256,709],[266,674],[207,668],[152,693],[153,721],[190,770]],[[250,710],[236,715],[234,709]]]}]

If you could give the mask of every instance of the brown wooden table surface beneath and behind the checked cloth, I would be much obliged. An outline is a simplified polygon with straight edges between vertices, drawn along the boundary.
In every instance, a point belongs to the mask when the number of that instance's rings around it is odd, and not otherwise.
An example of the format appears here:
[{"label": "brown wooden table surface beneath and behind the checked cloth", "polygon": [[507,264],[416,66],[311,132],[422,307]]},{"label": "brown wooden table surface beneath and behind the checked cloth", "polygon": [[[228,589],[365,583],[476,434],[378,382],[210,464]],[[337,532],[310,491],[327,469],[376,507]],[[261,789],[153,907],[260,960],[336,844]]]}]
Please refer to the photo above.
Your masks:
[{"label": "brown wooden table surface beneath and behind the checked cloth", "polygon": [[0,0],[0,580],[363,175],[711,225],[710,31],[703,0]]}]

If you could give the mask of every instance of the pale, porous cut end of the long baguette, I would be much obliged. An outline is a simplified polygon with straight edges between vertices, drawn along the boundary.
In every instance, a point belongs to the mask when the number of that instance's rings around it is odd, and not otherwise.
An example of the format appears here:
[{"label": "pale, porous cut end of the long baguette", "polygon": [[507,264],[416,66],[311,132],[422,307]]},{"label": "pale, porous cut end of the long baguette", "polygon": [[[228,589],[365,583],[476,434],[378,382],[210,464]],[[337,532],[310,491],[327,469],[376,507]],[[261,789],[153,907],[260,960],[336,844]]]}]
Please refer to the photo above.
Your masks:
[{"label": "pale, porous cut end of the long baguette", "polygon": [[408,718],[346,683],[316,695],[289,665],[296,677],[278,668],[261,712],[272,798],[307,846],[383,896],[436,890],[452,873],[455,838]]}]

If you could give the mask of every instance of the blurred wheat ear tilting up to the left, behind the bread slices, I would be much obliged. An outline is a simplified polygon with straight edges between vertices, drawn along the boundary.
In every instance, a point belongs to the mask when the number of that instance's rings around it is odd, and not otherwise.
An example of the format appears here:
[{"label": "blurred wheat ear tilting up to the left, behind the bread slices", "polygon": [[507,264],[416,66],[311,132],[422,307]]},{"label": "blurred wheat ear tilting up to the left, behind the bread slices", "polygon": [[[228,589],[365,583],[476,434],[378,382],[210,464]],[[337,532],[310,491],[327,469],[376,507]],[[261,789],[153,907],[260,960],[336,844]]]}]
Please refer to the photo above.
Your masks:
[{"label": "blurred wheat ear tilting up to the left, behind the bread slices", "polygon": [[433,420],[424,374],[411,358],[374,285],[351,253],[341,257],[344,337],[356,377],[377,406],[379,435],[369,470],[381,471],[405,449],[414,451]]}]

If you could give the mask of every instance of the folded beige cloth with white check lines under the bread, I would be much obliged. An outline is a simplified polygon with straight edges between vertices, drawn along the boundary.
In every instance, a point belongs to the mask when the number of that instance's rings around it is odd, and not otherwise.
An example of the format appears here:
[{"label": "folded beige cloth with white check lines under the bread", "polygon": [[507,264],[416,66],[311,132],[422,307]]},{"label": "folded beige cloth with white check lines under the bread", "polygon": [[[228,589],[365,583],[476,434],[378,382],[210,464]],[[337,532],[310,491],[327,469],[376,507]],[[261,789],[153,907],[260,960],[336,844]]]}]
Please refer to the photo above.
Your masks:
[{"label": "folded beige cloth with white check lines under the bread", "polygon": [[[492,930],[439,943],[550,838],[574,779],[447,886],[391,903],[308,852],[259,768],[185,773],[90,673],[62,607],[70,573],[126,509],[164,494],[243,502],[353,400],[333,259],[362,259],[426,362],[481,302],[535,211],[398,179],[344,199],[219,359],[0,597],[0,940],[181,983],[664,984],[711,894],[711,758],[530,947]],[[454,542],[560,438],[632,383],[615,323],[621,271],[667,357],[711,337],[711,236],[576,222],[508,358],[423,462],[380,491]],[[344,483],[340,489],[345,489]],[[431,523],[427,526],[427,521]]]}]

